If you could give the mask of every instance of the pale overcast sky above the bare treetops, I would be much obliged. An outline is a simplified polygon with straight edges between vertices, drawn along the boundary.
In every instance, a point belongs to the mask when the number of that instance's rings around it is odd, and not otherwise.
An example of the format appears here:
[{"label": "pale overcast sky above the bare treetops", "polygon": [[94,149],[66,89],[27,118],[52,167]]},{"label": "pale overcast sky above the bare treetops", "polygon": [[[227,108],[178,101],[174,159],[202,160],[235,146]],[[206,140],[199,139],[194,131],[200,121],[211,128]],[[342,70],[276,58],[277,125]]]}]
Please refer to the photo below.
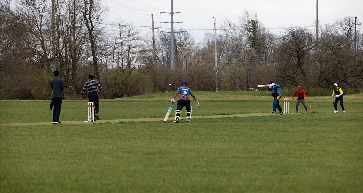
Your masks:
[{"label": "pale overcast sky above the bare treetops", "polygon": [[[50,0],[49,0],[50,1]],[[12,3],[15,0],[12,1]],[[125,21],[132,21],[134,25],[151,26],[151,13],[154,13],[155,27],[170,28],[170,0],[103,0],[109,8],[106,21],[114,23],[118,15]],[[174,28],[184,29],[213,29],[213,17],[217,18],[217,28],[223,19],[238,22],[244,9],[256,12],[260,21],[273,33],[279,33],[283,27],[315,25],[316,0],[174,0]],[[334,24],[336,20],[345,16],[358,17],[363,22],[363,0],[319,0],[319,23]],[[147,27],[138,27],[142,34],[151,33]],[[314,30],[314,28],[311,28]],[[358,26],[363,31],[362,25]],[[160,31],[170,29],[160,29]],[[208,30],[188,30],[196,42],[199,42]],[[158,32],[158,30],[156,30]],[[209,32],[213,32],[209,30]]]}]

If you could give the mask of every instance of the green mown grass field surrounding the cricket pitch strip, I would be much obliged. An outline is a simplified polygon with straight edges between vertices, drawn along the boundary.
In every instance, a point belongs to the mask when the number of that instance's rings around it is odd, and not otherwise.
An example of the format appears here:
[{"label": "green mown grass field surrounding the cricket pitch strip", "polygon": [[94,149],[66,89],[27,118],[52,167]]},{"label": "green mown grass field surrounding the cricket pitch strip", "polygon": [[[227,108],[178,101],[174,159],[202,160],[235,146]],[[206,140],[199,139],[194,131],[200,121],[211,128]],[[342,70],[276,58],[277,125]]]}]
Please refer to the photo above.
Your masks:
[{"label": "green mown grass field surrounding the cricket pitch strip", "polygon": [[[196,91],[192,117],[231,118],[102,121],[164,117],[172,94],[101,100],[96,124],[0,125],[0,192],[363,192],[363,94],[344,96],[345,114],[330,96],[238,118],[272,97]],[[86,120],[86,102],[64,100],[60,120]],[[50,123],[49,103],[0,101],[0,124]]]}]

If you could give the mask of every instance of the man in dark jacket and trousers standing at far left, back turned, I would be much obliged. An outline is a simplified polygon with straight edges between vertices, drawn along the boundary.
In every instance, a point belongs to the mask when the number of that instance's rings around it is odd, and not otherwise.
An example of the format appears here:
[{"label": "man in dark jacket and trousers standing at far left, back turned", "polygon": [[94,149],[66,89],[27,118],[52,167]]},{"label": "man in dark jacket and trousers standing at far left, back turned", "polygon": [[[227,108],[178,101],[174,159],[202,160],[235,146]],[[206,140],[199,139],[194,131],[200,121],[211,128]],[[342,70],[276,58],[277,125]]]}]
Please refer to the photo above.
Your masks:
[{"label": "man in dark jacket and trousers standing at far left, back turned", "polygon": [[[64,82],[58,77],[58,70],[54,70],[53,74],[54,78],[50,80],[50,88],[52,88],[52,103],[54,105],[52,123],[59,124],[61,123],[59,122],[59,116],[61,114],[62,100],[64,99]],[[52,109],[52,107],[50,107],[50,109]]]}]

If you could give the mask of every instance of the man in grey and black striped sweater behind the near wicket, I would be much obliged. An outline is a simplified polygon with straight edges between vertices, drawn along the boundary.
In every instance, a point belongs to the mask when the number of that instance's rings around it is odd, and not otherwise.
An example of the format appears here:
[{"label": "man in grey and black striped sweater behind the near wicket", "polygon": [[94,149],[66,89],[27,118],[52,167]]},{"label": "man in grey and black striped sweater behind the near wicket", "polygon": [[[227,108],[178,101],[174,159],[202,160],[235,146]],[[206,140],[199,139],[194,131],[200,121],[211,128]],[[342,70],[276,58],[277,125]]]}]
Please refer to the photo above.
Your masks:
[{"label": "man in grey and black striped sweater behind the near wicket", "polygon": [[94,105],[94,120],[99,120],[99,116],[98,116],[98,110],[99,110],[99,104],[98,104],[98,94],[97,94],[97,86],[99,89],[99,93],[101,93],[102,87],[99,84],[99,82],[95,79],[93,79],[93,75],[89,75],[89,80],[85,83],[85,86],[83,86],[82,92],[81,92],[81,99],[82,96],[86,93],[87,90],[87,95],[88,95],[88,100],[89,102],[93,102]]}]

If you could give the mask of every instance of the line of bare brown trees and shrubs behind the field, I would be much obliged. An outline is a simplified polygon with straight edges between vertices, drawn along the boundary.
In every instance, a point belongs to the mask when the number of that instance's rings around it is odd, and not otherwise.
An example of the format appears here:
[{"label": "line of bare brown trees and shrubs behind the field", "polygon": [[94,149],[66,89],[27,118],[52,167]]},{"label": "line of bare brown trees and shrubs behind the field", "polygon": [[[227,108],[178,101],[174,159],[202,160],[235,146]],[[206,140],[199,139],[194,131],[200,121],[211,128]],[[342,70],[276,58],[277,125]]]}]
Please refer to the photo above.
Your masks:
[{"label": "line of bare brown trees and shrubs behind the field", "polygon": [[102,98],[175,91],[183,79],[193,90],[214,91],[215,38],[219,90],[227,82],[231,90],[251,90],[270,80],[285,89],[363,89],[363,37],[358,30],[355,50],[351,17],[321,25],[316,42],[309,28],[274,34],[244,11],[238,22],[224,19],[216,37],[207,32],[195,42],[189,32],[175,33],[173,71],[169,33],[156,34],[154,66],[151,32],[142,35],[121,17],[106,24],[106,17],[101,0],[18,0],[14,8],[1,1],[1,99],[50,99],[56,69],[67,98],[79,96],[89,74],[101,82]]}]

